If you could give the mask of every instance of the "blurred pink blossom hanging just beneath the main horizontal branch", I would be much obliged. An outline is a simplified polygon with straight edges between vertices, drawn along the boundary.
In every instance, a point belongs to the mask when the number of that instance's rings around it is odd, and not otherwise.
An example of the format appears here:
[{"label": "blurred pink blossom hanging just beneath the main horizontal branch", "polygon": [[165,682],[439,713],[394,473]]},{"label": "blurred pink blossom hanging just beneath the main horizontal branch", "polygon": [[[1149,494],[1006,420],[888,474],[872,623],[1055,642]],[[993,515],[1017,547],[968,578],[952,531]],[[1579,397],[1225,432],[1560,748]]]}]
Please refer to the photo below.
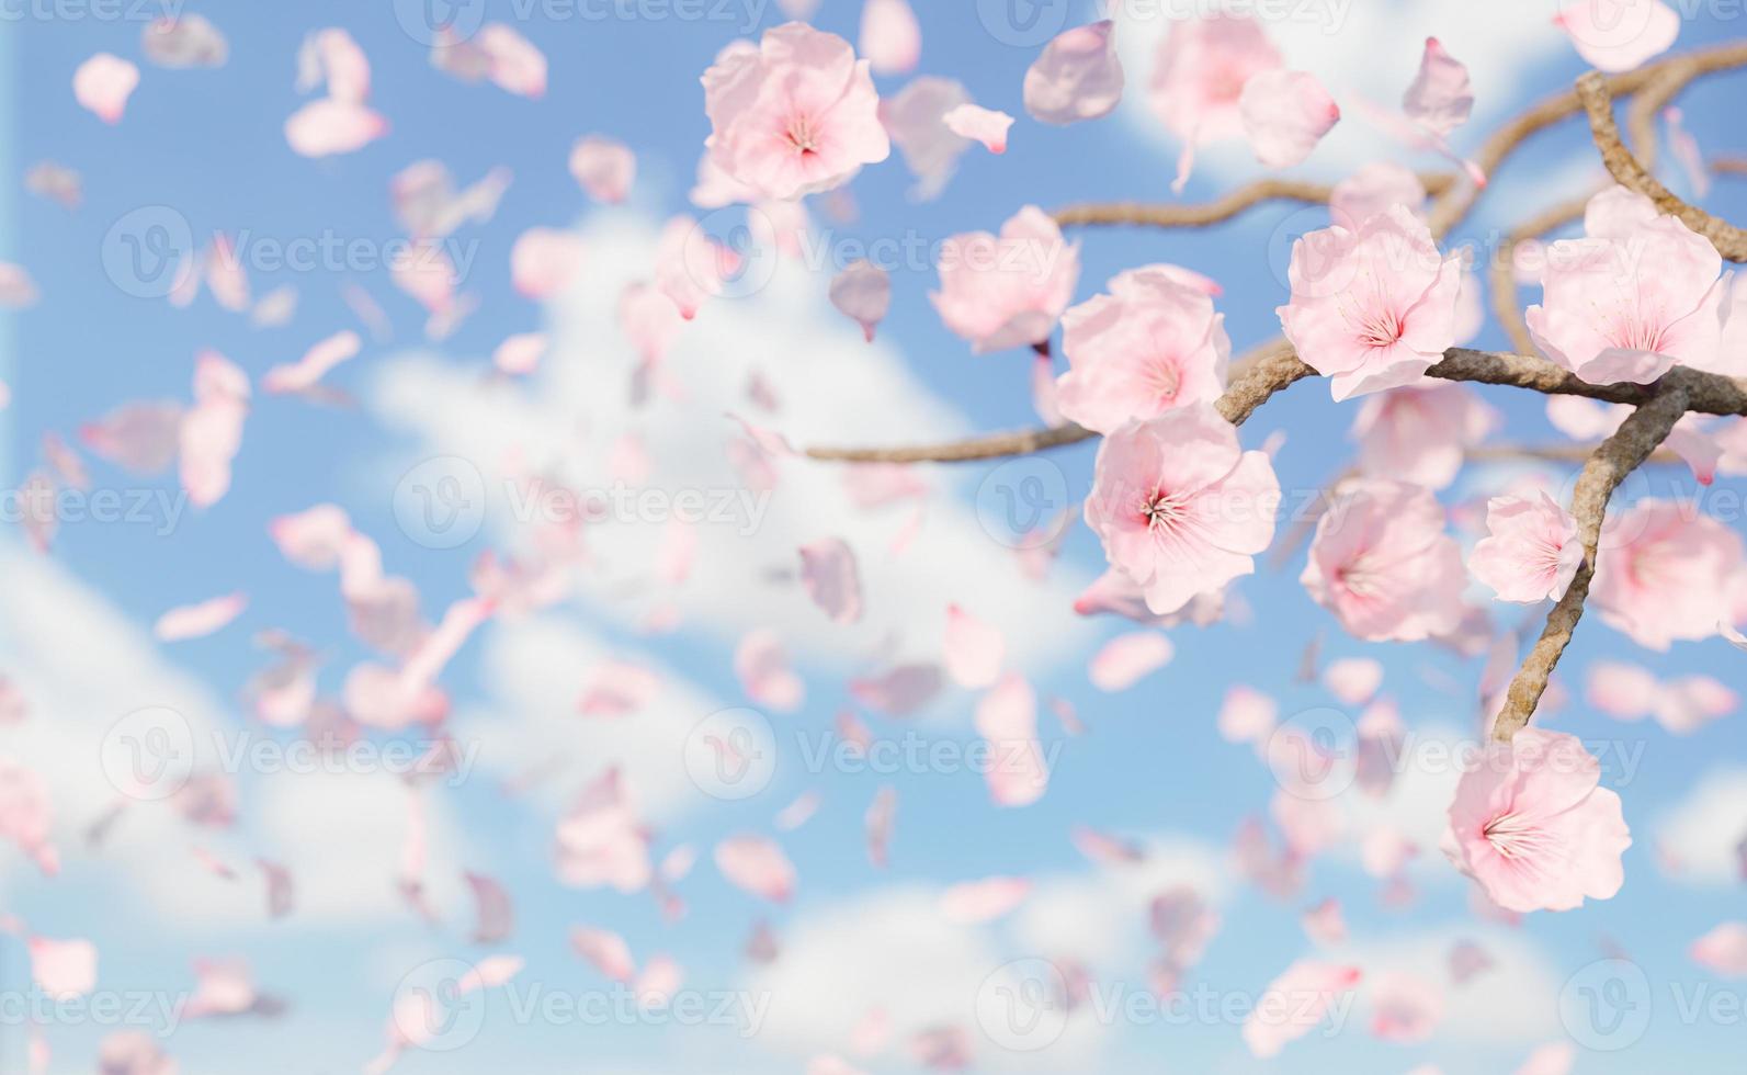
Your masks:
[{"label": "blurred pink blossom hanging just beneath the main horizontal branch", "polygon": [[1419,381],[1366,397],[1352,437],[1364,474],[1443,489],[1462,470],[1467,449],[1485,442],[1499,421],[1466,385]]}]

